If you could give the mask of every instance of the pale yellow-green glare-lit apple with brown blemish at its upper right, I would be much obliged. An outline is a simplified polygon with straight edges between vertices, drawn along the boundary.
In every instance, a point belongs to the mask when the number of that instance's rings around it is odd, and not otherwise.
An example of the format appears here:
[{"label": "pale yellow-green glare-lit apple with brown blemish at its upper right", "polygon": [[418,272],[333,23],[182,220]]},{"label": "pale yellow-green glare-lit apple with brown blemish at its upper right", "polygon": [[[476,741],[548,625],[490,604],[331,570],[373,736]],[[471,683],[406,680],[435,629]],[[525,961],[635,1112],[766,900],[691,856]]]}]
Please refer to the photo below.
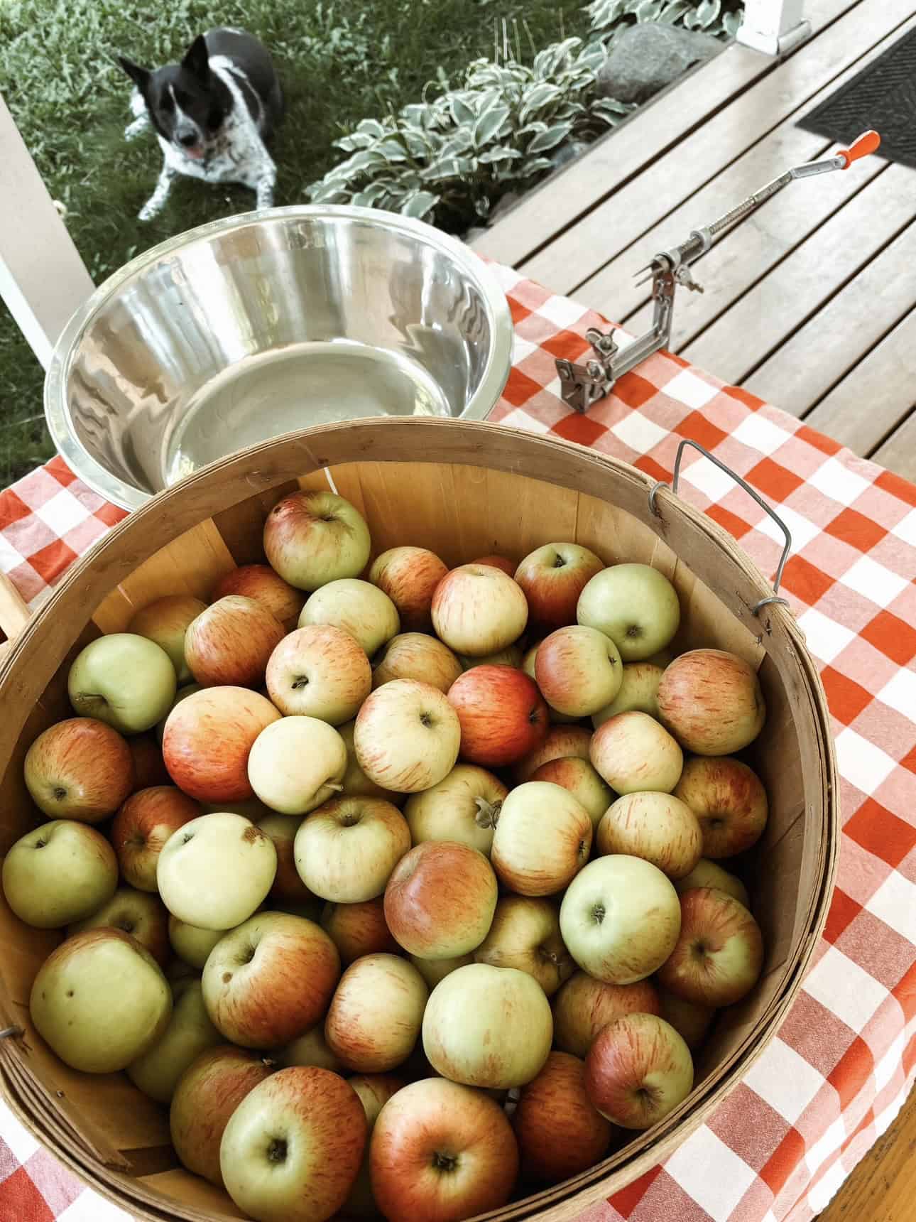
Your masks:
[{"label": "pale yellow-green glare-lit apple with brown blemish at its upper right", "polygon": [[[200,815],[159,854],[162,903],[198,929],[234,929],[266,898],[277,873],[274,841],[243,815]],[[219,880],[213,886],[211,880]]]}]

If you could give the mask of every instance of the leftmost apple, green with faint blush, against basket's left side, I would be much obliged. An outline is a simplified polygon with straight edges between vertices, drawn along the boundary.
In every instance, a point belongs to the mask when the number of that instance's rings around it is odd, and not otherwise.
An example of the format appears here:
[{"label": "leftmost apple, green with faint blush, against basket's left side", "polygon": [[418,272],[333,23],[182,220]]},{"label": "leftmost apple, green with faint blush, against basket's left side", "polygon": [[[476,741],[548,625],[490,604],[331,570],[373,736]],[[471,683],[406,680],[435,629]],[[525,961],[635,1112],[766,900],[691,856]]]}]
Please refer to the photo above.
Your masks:
[{"label": "leftmost apple, green with faint blush, against basket's left side", "polygon": [[55,819],[26,832],[4,858],[6,902],[27,925],[61,929],[114,896],[117,858],[88,824]]}]

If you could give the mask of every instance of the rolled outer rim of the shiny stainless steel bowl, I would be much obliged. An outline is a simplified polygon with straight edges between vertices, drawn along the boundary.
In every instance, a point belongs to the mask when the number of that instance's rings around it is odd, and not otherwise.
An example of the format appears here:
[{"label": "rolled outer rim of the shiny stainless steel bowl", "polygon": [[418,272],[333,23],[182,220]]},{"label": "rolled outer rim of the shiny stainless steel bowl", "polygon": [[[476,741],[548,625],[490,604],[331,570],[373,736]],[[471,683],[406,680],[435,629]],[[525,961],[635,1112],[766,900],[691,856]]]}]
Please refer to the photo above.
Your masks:
[{"label": "rolled outer rim of the shiny stainless steel bowl", "polygon": [[[458,238],[410,216],[401,216],[398,213],[388,213],[377,208],[355,208],[351,204],[291,204],[285,208],[263,208],[250,213],[237,213],[233,216],[222,216],[219,220],[198,225],[183,233],[176,233],[173,237],[166,238],[165,242],[159,242],[148,251],[134,255],[129,263],[104,280],[95,292],[75,310],[54,346],[44,379],[44,414],[51,439],[75,474],[106,501],[125,510],[137,510],[158,494],[144,492],[110,472],[93,458],[70,426],[72,422],[66,397],[70,367],[78,342],[93,316],[128,280],[164,255],[172,254],[175,251],[193,246],[217,233],[227,233],[260,221],[283,218],[368,221],[374,226],[409,233],[421,238],[426,244],[446,252],[480,288],[491,334],[490,352],[480,385],[471,395],[460,419],[482,420],[495,406],[506,385],[512,364],[512,314],[506,295],[487,264]],[[215,461],[220,462],[221,459]]]}]

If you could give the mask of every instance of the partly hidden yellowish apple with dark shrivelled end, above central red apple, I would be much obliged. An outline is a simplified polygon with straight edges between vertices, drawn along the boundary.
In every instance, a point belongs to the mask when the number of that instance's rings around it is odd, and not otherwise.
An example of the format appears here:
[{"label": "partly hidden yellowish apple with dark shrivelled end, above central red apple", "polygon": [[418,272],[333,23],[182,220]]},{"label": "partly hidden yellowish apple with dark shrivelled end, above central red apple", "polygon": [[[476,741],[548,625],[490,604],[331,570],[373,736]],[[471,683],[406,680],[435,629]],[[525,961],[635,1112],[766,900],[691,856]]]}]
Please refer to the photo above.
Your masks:
[{"label": "partly hidden yellowish apple with dark shrivelled end, above central red apple", "polygon": [[407,799],[404,816],[414,844],[454,841],[490,855],[493,830],[508,789],[474,764],[456,764],[438,785]]}]

